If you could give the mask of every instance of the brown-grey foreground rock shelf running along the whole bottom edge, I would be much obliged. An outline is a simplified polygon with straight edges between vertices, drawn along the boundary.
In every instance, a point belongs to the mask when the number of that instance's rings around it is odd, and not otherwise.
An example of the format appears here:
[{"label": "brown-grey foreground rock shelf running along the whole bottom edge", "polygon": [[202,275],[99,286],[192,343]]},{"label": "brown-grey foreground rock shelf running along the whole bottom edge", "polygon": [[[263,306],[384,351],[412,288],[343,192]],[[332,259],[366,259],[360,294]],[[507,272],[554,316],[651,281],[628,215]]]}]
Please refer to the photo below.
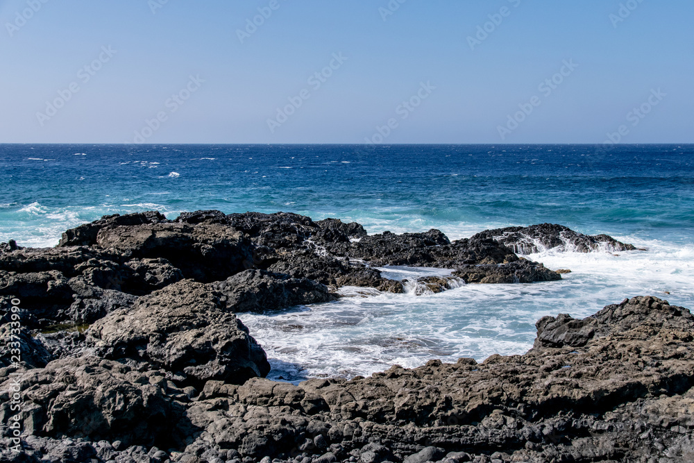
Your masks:
[{"label": "brown-grey foreground rock shelf running along the whole bottom edge", "polygon": [[[208,380],[194,400],[192,388],[180,389],[154,364],[95,355],[56,360],[19,370],[33,436],[22,457],[3,451],[1,460],[691,460],[689,310],[643,296],[582,320],[544,317],[537,330],[525,355],[493,355],[481,364],[432,360],[298,386]],[[0,369],[0,378],[10,371]],[[3,423],[11,385],[6,379],[0,387]]]}]

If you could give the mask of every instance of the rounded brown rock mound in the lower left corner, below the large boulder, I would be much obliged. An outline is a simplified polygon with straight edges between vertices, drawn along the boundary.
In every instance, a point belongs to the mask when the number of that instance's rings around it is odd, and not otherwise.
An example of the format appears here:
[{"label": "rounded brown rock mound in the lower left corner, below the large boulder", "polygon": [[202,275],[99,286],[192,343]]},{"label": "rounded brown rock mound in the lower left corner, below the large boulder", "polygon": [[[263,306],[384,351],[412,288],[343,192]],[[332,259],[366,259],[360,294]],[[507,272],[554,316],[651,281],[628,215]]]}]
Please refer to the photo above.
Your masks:
[{"label": "rounded brown rock mound in the lower left corner, below the large boulder", "polygon": [[[16,413],[8,401],[15,380],[2,379],[0,419],[7,423]],[[26,435],[175,444],[175,415],[164,394],[162,373],[140,373],[118,362],[81,357],[28,370],[17,382],[28,416],[23,423]]]}]

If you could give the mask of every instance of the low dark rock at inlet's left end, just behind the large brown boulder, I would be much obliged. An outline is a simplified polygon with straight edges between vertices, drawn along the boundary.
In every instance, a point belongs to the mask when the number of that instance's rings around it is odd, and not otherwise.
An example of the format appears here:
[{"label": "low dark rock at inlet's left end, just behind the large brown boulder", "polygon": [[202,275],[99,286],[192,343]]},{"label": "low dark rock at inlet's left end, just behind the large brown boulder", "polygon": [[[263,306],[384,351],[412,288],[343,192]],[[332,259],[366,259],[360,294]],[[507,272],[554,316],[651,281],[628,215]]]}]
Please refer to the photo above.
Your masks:
[{"label": "low dark rock at inlet's left end, just behind the large brown boulder", "polygon": [[232,312],[282,310],[294,305],[334,301],[336,298],[321,283],[264,270],[242,271],[211,286],[223,295],[227,309]]}]

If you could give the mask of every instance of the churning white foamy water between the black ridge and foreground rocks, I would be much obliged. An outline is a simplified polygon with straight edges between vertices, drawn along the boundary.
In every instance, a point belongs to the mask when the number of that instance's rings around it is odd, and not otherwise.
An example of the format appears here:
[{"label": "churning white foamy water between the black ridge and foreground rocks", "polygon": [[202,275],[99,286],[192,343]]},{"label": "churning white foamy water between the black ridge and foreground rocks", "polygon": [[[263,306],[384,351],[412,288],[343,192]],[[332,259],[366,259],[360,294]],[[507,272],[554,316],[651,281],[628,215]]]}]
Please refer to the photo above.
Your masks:
[{"label": "churning white foamy water between the black ridge and foreground rocks", "polygon": [[[588,317],[625,297],[650,294],[694,306],[694,244],[619,237],[650,251],[528,255],[550,269],[571,269],[563,280],[515,285],[461,285],[439,294],[390,294],[344,287],[335,303],[289,310],[271,317],[239,314],[264,346],[274,370],[298,382],[310,377],[368,376],[392,364],[417,367],[439,358],[482,361],[522,354],[532,347],[534,323],[545,315]],[[381,267],[387,278],[414,280],[446,269]],[[670,294],[666,294],[669,292]]]}]

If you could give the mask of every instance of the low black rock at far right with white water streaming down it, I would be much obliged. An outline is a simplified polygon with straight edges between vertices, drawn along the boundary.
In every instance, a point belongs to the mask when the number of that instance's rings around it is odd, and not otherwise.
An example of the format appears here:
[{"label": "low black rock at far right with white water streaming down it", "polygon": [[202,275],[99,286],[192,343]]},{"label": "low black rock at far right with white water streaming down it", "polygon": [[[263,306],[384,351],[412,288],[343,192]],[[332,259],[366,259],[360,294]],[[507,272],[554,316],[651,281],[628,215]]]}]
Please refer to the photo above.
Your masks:
[{"label": "low black rock at far right with white water streaming down it", "polygon": [[536,253],[540,251],[539,248],[557,248],[560,251],[579,253],[589,253],[601,249],[607,252],[634,251],[636,249],[632,244],[618,242],[608,235],[584,235],[555,224],[498,228],[477,233],[474,237],[496,239],[520,254]]}]

